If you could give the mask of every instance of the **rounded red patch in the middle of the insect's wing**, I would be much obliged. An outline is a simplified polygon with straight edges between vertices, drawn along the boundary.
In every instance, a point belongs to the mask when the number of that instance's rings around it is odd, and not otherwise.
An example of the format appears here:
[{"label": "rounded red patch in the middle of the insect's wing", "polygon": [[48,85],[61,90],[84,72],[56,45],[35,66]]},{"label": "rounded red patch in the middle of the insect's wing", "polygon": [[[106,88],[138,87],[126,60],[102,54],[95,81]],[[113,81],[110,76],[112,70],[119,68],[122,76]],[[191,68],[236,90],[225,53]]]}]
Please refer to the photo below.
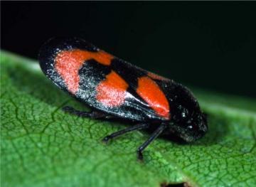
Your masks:
[{"label": "rounded red patch in the middle of the insect's wing", "polygon": [[113,70],[97,86],[96,99],[107,107],[118,107],[124,103],[128,84]]}]

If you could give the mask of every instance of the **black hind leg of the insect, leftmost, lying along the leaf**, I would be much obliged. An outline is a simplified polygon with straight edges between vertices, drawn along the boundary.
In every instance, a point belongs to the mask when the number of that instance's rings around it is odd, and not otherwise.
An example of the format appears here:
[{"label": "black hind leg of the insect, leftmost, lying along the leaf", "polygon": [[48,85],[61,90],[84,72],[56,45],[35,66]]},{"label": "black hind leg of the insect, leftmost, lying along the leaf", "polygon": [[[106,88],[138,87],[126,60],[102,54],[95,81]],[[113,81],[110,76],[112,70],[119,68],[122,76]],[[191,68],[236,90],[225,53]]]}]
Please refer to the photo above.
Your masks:
[{"label": "black hind leg of the insect, leftmost, lying along the leaf", "polygon": [[69,106],[63,107],[63,111],[68,112],[70,114],[75,114],[79,117],[92,117],[94,119],[110,117],[107,114],[104,114],[102,112],[98,112],[96,110],[92,110],[91,112],[84,112],[84,111],[80,111],[78,109],[74,109],[73,107],[69,107]]}]

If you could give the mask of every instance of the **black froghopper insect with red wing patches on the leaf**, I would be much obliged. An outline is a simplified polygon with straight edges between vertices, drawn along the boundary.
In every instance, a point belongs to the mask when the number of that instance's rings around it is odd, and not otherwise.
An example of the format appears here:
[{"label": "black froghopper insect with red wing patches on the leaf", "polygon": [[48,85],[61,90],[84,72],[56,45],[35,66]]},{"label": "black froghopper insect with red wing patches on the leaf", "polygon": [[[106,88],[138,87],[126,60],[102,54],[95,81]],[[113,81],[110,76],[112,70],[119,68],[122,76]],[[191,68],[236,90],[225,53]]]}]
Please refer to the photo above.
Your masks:
[{"label": "black froghopper insect with red wing patches on the leaf", "polygon": [[43,73],[61,90],[91,108],[65,112],[94,119],[127,119],[132,126],[103,139],[107,142],[127,132],[154,128],[137,154],[160,134],[191,142],[203,137],[208,126],[196,98],[188,88],[127,63],[81,38],[51,38],[41,48]]}]

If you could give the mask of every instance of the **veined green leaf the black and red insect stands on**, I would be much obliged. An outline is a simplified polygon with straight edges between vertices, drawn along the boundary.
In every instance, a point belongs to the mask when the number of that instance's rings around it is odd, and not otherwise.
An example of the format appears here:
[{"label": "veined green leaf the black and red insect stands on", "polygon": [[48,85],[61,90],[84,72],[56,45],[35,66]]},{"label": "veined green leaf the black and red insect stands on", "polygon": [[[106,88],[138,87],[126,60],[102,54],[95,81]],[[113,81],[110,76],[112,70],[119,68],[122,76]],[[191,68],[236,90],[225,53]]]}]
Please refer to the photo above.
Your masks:
[{"label": "veined green leaf the black and red insect stands on", "polygon": [[134,132],[101,139],[127,124],[79,118],[84,108],[48,80],[37,63],[1,51],[1,186],[256,186],[256,101],[194,90],[208,114],[193,144]]}]

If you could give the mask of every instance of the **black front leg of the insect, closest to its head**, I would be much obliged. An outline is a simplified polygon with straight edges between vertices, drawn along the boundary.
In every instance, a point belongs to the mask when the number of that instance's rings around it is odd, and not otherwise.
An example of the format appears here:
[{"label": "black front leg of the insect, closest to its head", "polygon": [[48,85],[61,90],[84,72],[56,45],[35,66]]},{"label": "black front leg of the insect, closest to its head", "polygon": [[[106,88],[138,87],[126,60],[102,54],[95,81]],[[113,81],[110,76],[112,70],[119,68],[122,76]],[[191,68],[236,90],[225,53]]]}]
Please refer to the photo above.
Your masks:
[{"label": "black front leg of the insect, closest to its head", "polygon": [[137,149],[138,159],[143,160],[142,151],[148,146],[154,139],[156,139],[163,131],[166,129],[165,124],[161,124],[154,132],[151,134],[151,137],[147,139],[139,148]]}]

